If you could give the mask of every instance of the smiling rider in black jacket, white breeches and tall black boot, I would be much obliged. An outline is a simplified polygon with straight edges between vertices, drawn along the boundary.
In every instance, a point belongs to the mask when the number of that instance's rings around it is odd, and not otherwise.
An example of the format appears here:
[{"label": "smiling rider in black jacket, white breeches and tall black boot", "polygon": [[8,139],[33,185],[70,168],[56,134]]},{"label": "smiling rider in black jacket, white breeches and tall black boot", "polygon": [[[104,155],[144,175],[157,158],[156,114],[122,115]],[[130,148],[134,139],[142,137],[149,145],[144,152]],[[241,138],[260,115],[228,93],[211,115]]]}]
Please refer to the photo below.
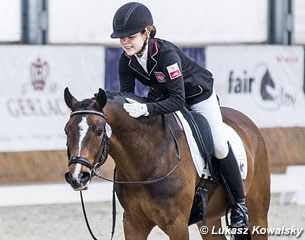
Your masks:
[{"label": "smiling rider in black jacket, white breeches and tall black boot", "polygon": [[233,151],[223,134],[212,74],[171,42],[155,38],[155,34],[151,12],[141,3],[124,4],[114,15],[111,38],[119,38],[124,50],[119,61],[120,91],[134,93],[137,79],[150,87],[150,95],[158,98],[146,104],[127,98],[124,109],[134,118],[175,112],[185,105],[201,113],[209,122],[215,157],[235,200],[231,226],[247,227],[243,183]]}]

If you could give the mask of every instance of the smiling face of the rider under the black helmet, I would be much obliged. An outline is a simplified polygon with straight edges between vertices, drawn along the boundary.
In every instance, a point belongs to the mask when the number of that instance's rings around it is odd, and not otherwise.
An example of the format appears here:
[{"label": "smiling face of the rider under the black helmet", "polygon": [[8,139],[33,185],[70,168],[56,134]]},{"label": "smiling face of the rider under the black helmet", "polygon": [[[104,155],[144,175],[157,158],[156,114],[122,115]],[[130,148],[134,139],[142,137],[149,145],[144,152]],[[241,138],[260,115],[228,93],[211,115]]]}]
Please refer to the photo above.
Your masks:
[{"label": "smiling face of the rider under the black helmet", "polygon": [[132,56],[142,50],[145,41],[146,34],[139,32],[129,37],[120,38],[120,45],[128,56]]}]

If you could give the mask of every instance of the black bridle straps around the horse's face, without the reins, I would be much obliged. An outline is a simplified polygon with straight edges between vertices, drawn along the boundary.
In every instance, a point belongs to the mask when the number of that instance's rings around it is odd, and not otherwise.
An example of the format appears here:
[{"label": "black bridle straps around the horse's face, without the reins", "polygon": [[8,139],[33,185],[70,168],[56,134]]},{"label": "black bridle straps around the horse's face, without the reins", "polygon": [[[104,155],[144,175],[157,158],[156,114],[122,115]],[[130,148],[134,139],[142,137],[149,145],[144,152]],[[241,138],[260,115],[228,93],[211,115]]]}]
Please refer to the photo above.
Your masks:
[{"label": "black bridle straps around the horse's face, without the reins", "polygon": [[106,124],[104,126],[104,131],[103,131],[103,137],[102,137],[102,143],[96,153],[95,160],[93,163],[90,163],[86,158],[83,157],[72,157],[70,158],[70,151],[69,148],[67,149],[68,152],[68,166],[71,164],[76,164],[79,163],[81,165],[84,165],[88,167],[91,170],[91,177],[97,176],[99,172],[99,168],[103,163],[106,161],[109,153],[109,137],[111,136],[111,127],[107,123],[107,118],[104,113],[94,111],[94,110],[79,110],[79,111],[74,111],[70,114],[70,117],[73,115],[78,115],[78,114],[94,114],[101,116],[105,121]]}]

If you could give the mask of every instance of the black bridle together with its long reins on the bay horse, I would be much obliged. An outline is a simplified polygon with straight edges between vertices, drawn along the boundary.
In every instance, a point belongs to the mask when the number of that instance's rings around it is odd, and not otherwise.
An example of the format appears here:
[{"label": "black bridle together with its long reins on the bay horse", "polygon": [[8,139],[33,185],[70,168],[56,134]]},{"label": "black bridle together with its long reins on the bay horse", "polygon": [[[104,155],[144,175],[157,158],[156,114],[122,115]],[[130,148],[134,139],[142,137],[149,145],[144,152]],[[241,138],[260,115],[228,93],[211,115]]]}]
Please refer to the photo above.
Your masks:
[{"label": "black bridle together with its long reins on the bay horse", "polygon": [[[83,158],[83,157],[72,157],[70,158],[69,156],[69,161],[68,161],[68,166],[70,166],[71,164],[82,164],[86,167],[88,167],[91,170],[91,178],[94,176],[97,176],[98,178],[101,178],[105,181],[108,182],[112,182],[113,183],[113,194],[112,194],[112,232],[111,232],[111,240],[113,239],[114,236],[114,230],[115,230],[115,223],[116,223],[116,201],[115,201],[115,189],[114,189],[114,184],[144,184],[144,185],[149,185],[149,184],[154,184],[157,182],[160,182],[166,178],[168,178],[181,164],[180,161],[180,149],[179,149],[179,145],[178,145],[178,141],[173,133],[173,130],[171,129],[170,125],[169,126],[169,130],[170,133],[173,137],[174,143],[175,143],[175,149],[176,149],[176,157],[178,159],[177,164],[175,165],[175,167],[173,167],[167,174],[165,174],[162,177],[153,179],[153,180],[142,180],[142,181],[119,181],[119,180],[114,180],[115,178],[115,170],[114,170],[114,177],[113,180],[108,179],[108,178],[104,178],[102,176],[99,175],[99,168],[101,167],[101,165],[103,165],[103,163],[107,160],[108,157],[108,153],[109,153],[109,145],[110,145],[110,141],[109,138],[111,136],[112,130],[110,125],[107,123],[107,118],[105,116],[104,113],[102,112],[98,112],[98,111],[94,111],[94,110],[78,110],[78,111],[74,111],[70,114],[70,117],[76,114],[95,114],[98,116],[101,116],[105,121],[105,129],[104,129],[104,135],[103,135],[103,139],[102,139],[102,143],[99,147],[99,150],[96,154],[96,159],[94,160],[93,164],[91,164],[87,159]],[[162,116],[164,117],[164,116]],[[69,153],[69,149],[67,149],[67,152]],[[101,153],[101,157],[99,158],[98,156]],[[86,208],[85,208],[85,204],[84,204],[84,199],[83,199],[83,193],[82,190],[80,190],[80,198],[81,198],[81,204],[82,204],[82,209],[83,209],[83,215],[86,221],[86,225],[88,228],[88,231],[92,237],[93,240],[97,240],[97,238],[95,237],[95,235],[93,234],[88,218],[87,218],[87,213],[86,213]]]}]

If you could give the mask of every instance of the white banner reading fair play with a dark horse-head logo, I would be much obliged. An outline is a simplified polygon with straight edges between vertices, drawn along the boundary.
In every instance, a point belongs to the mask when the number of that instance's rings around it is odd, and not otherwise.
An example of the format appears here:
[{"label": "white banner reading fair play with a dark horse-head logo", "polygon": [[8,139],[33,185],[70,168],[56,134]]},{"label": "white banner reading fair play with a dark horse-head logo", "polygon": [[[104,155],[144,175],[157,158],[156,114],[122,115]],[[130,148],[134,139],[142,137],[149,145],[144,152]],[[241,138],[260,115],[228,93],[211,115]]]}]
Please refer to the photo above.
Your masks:
[{"label": "white banner reading fair play with a dark horse-head logo", "polygon": [[206,62],[221,105],[261,128],[305,126],[302,47],[212,46]]}]

